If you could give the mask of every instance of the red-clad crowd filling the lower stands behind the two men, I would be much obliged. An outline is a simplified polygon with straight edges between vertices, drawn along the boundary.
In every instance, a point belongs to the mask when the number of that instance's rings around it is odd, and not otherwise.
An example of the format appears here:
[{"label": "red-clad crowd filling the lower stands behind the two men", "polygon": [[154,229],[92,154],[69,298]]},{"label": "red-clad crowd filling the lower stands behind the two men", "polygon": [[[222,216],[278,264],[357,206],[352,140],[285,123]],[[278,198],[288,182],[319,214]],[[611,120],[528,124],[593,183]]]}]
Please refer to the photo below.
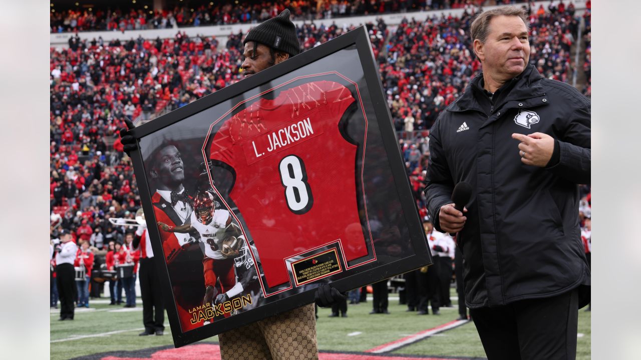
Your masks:
[{"label": "red-clad crowd filling the lower stands behind the two men", "polygon": [[[412,1],[382,3],[385,6],[414,4]],[[427,3],[454,7],[463,1]],[[385,6],[379,10],[387,11]],[[222,8],[224,6],[217,12]],[[389,29],[383,20],[366,25],[421,217],[427,215],[422,189],[428,166],[429,128],[440,111],[463,93],[479,71],[479,61],[474,58],[466,36],[475,10],[472,7],[461,17],[433,16],[424,22],[404,19],[395,29]],[[576,67],[570,58],[570,47],[576,42],[579,28],[574,6],[560,2],[547,9],[530,10],[530,62],[547,78],[570,81]],[[89,24],[105,22],[96,20],[101,19],[97,13]],[[589,11],[586,14],[584,70],[589,95]],[[60,26],[56,25],[59,20],[54,21],[52,17],[52,27]],[[210,21],[218,20],[210,17]],[[87,25],[87,29],[94,25]],[[79,26],[76,22],[76,27]],[[312,23],[299,27],[297,33],[306,51],[349,29]],[[119,140],[118,129],[125,126],[124,119],[144,119],[175,110],[240,81],[242,47],[240,33],[229,36],[226,44],[219,44],[215,37],[189,38],[178,31],[173,38],[138,37],[109,43],[101,38],[86,41],[76,36],[70,40],[69,48],[50,49],[51,239],[58,238],[58,232],[65,229],[71,231],[79,244],[87,243],[83,248],[86,246],[95,258],[92,256],[90,262],[86,259],[87,249],[79,249],[78,258],[87,261],[88,274],[92,267],[103,264],[110,270],[119,264],[135,265],[139,256],[128,247],[135,228],[116,226],[107,220],[133,219],[140,208],[133,168]],[[581,211],[590,218],[589,187],[584,186],[581,191],[584,197]],[[54,266],[52,263],[52,269]],[[82,290],[79,293],[87,292],[84,282],[78,286]],[[119,304],[121,291],[113,291],[114,286],[129,294],[127,306],[135,306],[130,299],[131,296],[135,299],[131,282],[110,283],[112,303]],[[99,296],[99,288],[96,283],[92,285],[92,297]],[[118,295],[114,297],[114,293]],[[88,298],[83,299],[79,299],[78,304],[88,306]],[[358,302],[356,295],[351,302]],[[56,306],[53,292],[51,306]]]}]

